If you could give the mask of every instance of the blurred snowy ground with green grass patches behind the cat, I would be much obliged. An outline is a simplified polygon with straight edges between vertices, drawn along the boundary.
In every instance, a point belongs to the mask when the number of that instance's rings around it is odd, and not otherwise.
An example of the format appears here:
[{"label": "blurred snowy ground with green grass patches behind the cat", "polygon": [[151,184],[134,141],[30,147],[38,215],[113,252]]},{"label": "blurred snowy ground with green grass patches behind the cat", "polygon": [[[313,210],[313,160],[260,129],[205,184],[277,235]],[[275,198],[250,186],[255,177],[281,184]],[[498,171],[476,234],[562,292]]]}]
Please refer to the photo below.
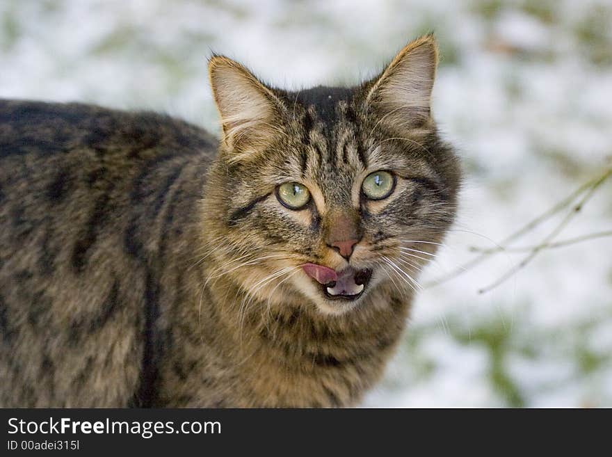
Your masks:
[{"label": "blurred snowy ground with green grass patches behind the cat", "polygon": [[466,182],[363,406],[612,406],[612,1],[1,0],[0,97],[217,132],[211,51],[277,86],[351,84],[427,31],[442,54],[433,113]]}]

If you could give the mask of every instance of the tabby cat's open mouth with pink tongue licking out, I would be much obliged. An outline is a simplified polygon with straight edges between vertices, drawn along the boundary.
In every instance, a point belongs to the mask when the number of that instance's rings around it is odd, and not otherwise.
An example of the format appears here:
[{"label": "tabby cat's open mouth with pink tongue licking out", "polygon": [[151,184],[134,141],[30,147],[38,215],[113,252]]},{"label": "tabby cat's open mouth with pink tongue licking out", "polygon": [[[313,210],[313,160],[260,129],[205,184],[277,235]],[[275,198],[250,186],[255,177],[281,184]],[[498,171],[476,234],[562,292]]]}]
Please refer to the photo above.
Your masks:
[{"label": "tabby cat's open mouth with pink tongue licking out", "polygon": [[323,295],[330,300],[357,300],[372,277],[370,269],[357,270],[352,266],[342,271],[317,264],[303,264],[302,268],[310,278],[319,282]]}]

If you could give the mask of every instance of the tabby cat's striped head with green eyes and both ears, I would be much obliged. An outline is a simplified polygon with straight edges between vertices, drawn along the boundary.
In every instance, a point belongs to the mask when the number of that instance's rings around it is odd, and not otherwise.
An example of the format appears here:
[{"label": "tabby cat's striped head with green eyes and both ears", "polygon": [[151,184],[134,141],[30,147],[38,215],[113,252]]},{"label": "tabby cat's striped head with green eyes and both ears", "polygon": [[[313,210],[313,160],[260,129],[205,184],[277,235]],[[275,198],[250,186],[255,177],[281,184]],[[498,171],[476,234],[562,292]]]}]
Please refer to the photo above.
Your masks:
[{"label": "tabby cat's striped head with green eyes and both ears", "polygon": [[427,35],[353,88],[272,88],[214,56],[223,138],[204,197],[209,280],[245,304],[289,298],[344,314],[381,283],[416,289],[456,212],[460,180],[437,135]]}]

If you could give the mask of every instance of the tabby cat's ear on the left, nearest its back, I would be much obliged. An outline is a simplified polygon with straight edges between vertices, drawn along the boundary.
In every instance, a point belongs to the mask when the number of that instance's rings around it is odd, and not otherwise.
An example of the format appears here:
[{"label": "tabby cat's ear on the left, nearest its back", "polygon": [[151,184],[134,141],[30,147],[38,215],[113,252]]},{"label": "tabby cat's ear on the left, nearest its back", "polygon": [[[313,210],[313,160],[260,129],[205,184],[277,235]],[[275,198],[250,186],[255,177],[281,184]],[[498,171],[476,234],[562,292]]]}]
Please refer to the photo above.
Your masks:
[{"label": "tabby cat's ear on the left, nearest its back", "polygon": [[277,131],[280,101],[243,65],[224,56],[209,60],[211,88],[231,161],[249,157],[269,144]]}]

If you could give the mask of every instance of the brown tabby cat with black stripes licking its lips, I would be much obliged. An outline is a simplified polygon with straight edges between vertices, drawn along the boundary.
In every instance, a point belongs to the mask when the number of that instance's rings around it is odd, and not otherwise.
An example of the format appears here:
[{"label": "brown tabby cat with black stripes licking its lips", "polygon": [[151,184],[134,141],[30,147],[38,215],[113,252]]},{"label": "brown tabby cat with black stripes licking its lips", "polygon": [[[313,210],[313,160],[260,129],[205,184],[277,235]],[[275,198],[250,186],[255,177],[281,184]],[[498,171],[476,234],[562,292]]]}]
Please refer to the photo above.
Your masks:
[{"label": "brown tabby cat with black stripes licking its lips", "polygon": [[436,66],[289,92],[214,55],[220,139],[1,101],[0,406],[357,405],[456,214]]}]

